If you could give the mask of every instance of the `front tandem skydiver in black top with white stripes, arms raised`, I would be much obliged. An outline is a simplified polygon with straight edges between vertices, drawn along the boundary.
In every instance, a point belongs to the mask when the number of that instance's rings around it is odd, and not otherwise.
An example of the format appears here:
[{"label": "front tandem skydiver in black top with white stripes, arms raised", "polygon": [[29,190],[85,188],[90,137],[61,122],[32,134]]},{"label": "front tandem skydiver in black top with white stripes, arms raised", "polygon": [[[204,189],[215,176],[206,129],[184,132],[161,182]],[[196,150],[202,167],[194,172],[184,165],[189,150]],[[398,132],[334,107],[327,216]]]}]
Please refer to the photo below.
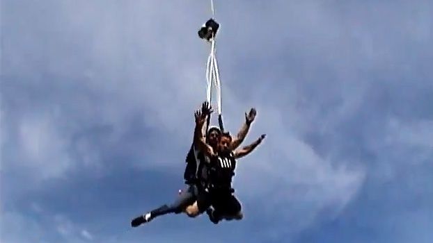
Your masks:
[{"label": "front tandem skydiver in black top with white stripes, arms raised", "polygon": [[[212,110],[210,110],[212,112]],[[212,147],[205,142],[202,127],[206,114],[195,112],[196,131],[194,142],[206,158],[207,167],[204,190],[200,190],[197,200],[186,208],[187,214],[196,217],[207,211],[210,220],[217,224],[223,218],[242,219],[242,206],[234,195],[232,179],[235,176],[236,159],[242,158],[255,149],[265,139],[265,135],[249,146],[233,149],[233,139],[229,133],[221,133],[218,146]],[[210,206],[214,208],[210,209]]]}]

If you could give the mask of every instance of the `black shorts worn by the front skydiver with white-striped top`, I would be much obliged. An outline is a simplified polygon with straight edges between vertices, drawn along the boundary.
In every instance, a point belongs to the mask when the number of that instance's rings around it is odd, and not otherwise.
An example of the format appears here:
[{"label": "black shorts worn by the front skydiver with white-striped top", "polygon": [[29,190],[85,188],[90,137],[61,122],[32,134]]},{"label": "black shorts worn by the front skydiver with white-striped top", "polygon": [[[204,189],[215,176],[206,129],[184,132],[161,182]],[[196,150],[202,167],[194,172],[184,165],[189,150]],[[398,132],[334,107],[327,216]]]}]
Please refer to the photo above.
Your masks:
[{"label": "black shorts worn by the front skydiver with white-striped top", "polygon": [[242,210],[241,203],[228,191],[201,192],[197,197],[197,206],[200,213],[213,206],[221,215],[236,215]]}]

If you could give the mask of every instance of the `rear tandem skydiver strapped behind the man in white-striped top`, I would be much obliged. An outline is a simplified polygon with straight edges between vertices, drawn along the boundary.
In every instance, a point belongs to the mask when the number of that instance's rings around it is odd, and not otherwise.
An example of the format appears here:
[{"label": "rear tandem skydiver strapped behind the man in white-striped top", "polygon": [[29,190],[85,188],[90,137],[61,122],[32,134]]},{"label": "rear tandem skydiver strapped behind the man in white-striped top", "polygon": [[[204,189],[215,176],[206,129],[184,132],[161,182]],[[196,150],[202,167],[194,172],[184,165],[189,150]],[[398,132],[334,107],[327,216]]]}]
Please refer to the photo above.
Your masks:
[{"label": "rear tandem skydiver strapped behind the man in white-striped top", "polygon": [[[201,114],[205,116],[210,116],[210,103],[205,101],[201,107]],[[233,139],[231,146],[233,148],[237,148],[245,139],[246,134],[249,131],[249,128],[252,122],[255,119],[256,110],[251,108],[249,113],[245,113],[245,123],[240,129],[237,136]],[[203,134],[203,131],[201,131]],[[221,129],[213,126],[211,127],[205,136],[205,141],[209,146],[215,147],[218,146],[219,135],[221,135]],[[195,137],[195,135],[194,135]],[[184,183],[187,184],[187,187],[184,190],[180,191],[177,199],[171,204],[164,204],[163,206],[156,208],[155,210],[151,210],[150,212],[145,213],[144,215],[140,215],[132,219],[131,226],[136,227],[141,224],[147,223],[155,217],[159,217],[162,215],[166,215],[168,213],[179,214],[181,212],[187,213],[190,217],[194,217],[194,215],[189,214],[185,211],[187,206],[191,205],[196,201],[198,193],[202,190],[203,187],[203,174],[205,174],[205,169],[203,168],[203,160],[205,160],[203,153],[199,153],[196,148],[195,143],[191,144],[191,149],[187,154],[187,167],[184,171]]]}]

